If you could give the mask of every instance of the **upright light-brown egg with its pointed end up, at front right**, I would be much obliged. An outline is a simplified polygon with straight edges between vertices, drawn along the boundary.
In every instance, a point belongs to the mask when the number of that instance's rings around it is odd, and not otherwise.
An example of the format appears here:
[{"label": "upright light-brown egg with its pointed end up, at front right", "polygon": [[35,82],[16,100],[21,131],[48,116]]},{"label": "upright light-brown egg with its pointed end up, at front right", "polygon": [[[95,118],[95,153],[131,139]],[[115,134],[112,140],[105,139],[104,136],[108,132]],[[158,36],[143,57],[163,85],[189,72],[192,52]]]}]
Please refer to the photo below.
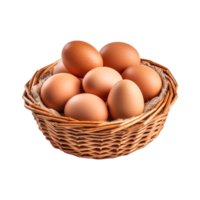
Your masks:
[{"label": "upright light-brown egg with its pointed end up, at front right", "polygon": [[117,82],[108,95],[108,108],[112,119],[138,116],[144,111],[144,99],[139,87],[130,80]]}]

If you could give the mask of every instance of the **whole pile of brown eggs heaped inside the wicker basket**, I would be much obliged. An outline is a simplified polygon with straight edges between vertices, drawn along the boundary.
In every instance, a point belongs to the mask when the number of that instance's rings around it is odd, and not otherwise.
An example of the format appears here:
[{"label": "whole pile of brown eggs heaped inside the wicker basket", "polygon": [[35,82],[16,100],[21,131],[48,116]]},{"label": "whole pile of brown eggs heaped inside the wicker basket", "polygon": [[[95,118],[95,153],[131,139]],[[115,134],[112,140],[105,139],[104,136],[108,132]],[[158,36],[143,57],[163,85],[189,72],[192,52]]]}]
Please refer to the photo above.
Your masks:
[{"label": "whole pile of brown eggs heaped inside the wicker basket", "polygon": [[68,41],[41,88],[41,99],[46,107],[81,121],[138,116],[162,88],[157,72],[140,65],[140,59],[127,42],[113,41],[98,49],[85,40]]}]

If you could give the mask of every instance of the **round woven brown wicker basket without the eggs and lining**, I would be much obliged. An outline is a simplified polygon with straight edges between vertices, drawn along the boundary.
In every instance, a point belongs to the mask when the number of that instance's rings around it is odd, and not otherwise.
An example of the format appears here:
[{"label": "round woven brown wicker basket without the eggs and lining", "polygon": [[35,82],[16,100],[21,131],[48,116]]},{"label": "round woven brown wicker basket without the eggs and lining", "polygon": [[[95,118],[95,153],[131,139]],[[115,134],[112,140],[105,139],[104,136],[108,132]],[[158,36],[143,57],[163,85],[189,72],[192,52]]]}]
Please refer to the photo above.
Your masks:
[{"label": "round woven brown wicker basket without the eggs and lining", "polygon": [[62,117],[39,106],[31,95],[31,87],[40,76],[50,71],[59,59],[35,70],[23,85],[22,106],[30,112],[37,129],[49,145],[75,158],[107,160],[130,156],[140,151],[161,135],[173,106],[180,98],[180,84],[170,68],[147,58],[164,72],[168,81],[166,96],[155,108],[134,119],[90,122]]}]

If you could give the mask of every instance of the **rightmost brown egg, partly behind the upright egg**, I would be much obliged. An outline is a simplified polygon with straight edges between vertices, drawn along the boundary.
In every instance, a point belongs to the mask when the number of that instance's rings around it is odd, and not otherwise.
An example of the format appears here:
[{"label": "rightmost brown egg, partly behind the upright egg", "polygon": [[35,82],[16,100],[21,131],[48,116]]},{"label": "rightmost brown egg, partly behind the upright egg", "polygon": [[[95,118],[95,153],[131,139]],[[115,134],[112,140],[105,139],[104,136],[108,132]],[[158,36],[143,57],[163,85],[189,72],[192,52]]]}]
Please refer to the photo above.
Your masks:
[{"label": "rightmost brown egg, partly behind the upright egg", "polygon": [[123,79],[129,79],[140,88],[144,102],[156,97],[162,88],[158,73],[145,65],[131,66],[122,73]]}]

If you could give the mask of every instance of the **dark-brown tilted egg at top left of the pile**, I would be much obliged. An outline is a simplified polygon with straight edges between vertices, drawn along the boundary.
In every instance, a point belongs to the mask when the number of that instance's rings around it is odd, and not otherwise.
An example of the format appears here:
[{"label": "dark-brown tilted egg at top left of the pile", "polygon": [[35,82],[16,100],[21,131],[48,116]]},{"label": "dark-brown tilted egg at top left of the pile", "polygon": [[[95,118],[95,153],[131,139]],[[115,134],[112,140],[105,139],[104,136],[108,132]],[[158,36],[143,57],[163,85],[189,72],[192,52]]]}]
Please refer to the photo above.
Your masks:
[{"label": "dark-brown tilted egg at top left of the pile", "polygon": [[91,69],[103,66],[98,48],[83,40],[67,42],[61,49],[61,58],[67,70],[81,78]]}]

